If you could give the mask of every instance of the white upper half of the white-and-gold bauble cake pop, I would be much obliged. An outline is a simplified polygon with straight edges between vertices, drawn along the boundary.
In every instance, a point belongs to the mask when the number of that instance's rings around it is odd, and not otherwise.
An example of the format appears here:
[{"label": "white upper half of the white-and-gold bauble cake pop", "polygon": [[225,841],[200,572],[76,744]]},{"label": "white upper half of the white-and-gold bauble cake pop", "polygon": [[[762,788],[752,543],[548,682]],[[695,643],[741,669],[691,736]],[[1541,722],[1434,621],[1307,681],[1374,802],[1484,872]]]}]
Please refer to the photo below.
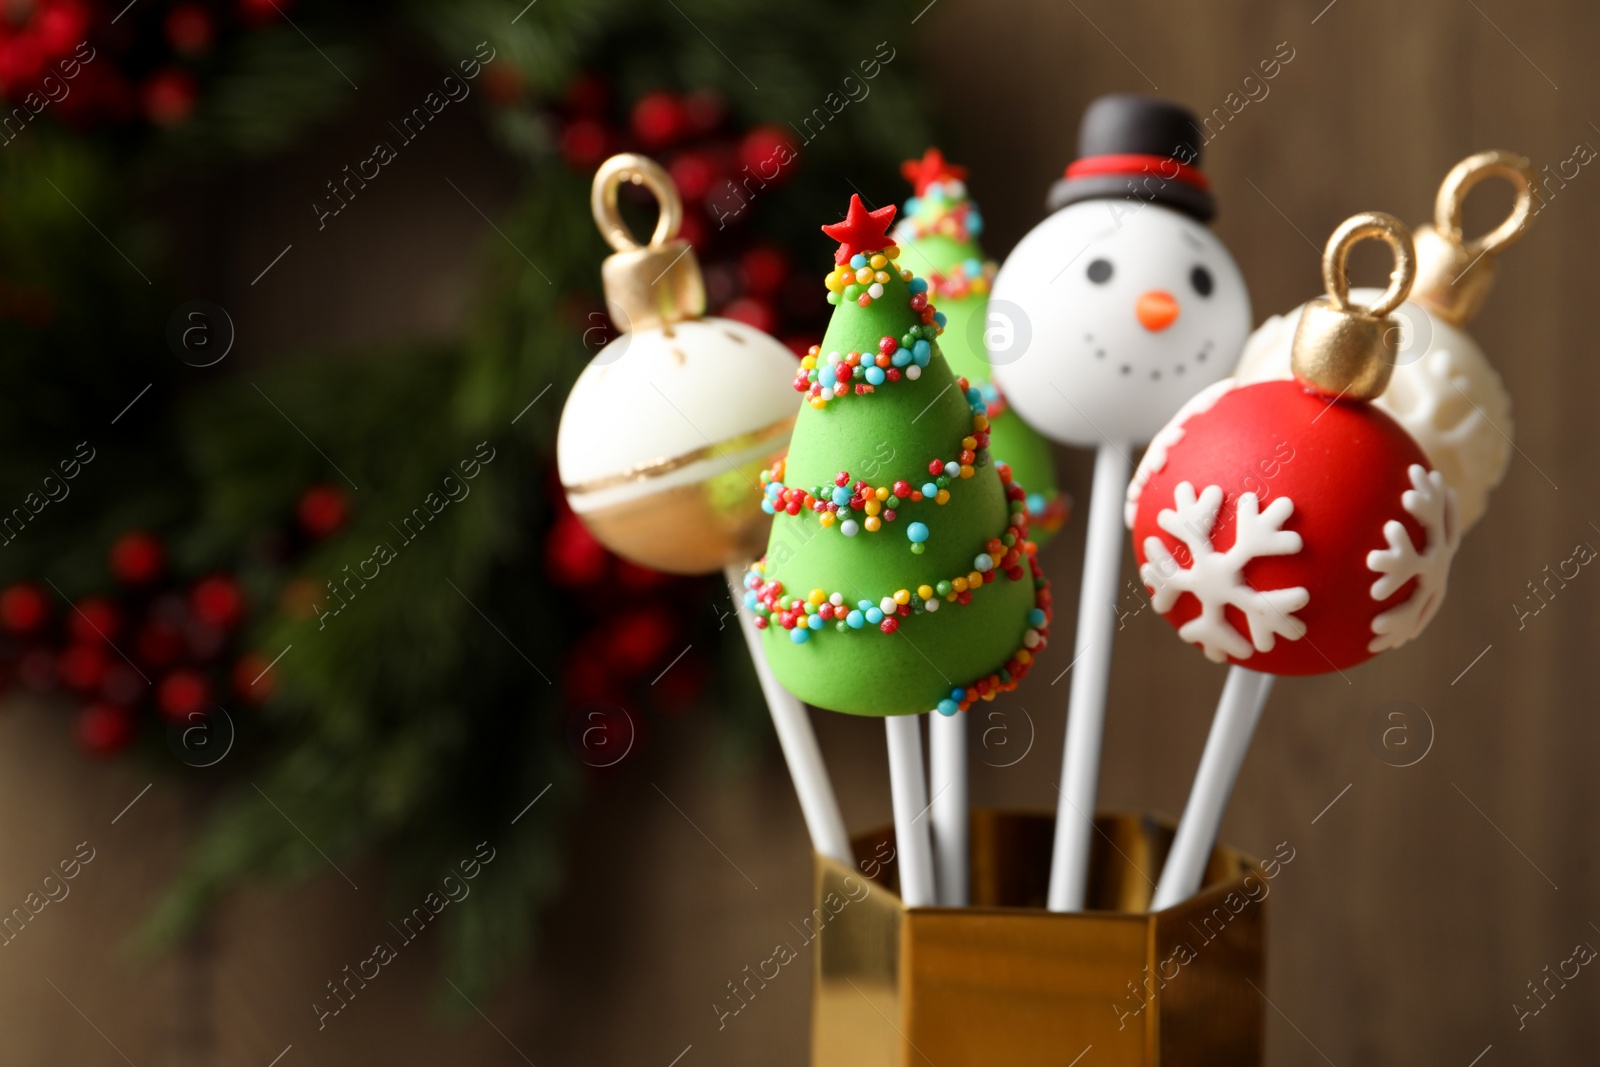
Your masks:
[{"label": "white upper half of the white-and-gold bauble cake pop", "polygon": [[670,475],[579,494],[573,506],[587,510],[648,496],[782,451],[787,437],[744,451],[730,442],[798,411],[797,368],[794,354],[774,338],[728,318],[675,323],[672,336],[662,330],[622,334],[590,360],[566,397],[555,438],[562,485],[714,450]]}]

